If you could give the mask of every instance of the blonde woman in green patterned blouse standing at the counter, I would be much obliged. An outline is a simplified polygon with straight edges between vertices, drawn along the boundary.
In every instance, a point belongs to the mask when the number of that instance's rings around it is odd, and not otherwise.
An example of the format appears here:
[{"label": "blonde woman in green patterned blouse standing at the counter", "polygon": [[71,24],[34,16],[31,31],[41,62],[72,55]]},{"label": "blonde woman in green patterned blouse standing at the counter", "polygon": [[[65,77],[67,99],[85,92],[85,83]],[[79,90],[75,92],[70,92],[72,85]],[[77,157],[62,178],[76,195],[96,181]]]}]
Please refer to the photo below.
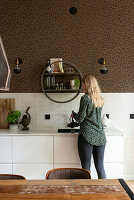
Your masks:
[{"label": "blonde woman in green patterned blouse standing at the counter", "polygon": [[90,171],[93,154],[95,168],[99,179],[105,179],[104,150],[106,136],[101,122],[101,111],[104,99],[100,96],[100,88],[94,76],[86,75],[82,79],[85,93],[80,100],[79,112],[71,114],[79,124],[78,152],[82,168]]}]

